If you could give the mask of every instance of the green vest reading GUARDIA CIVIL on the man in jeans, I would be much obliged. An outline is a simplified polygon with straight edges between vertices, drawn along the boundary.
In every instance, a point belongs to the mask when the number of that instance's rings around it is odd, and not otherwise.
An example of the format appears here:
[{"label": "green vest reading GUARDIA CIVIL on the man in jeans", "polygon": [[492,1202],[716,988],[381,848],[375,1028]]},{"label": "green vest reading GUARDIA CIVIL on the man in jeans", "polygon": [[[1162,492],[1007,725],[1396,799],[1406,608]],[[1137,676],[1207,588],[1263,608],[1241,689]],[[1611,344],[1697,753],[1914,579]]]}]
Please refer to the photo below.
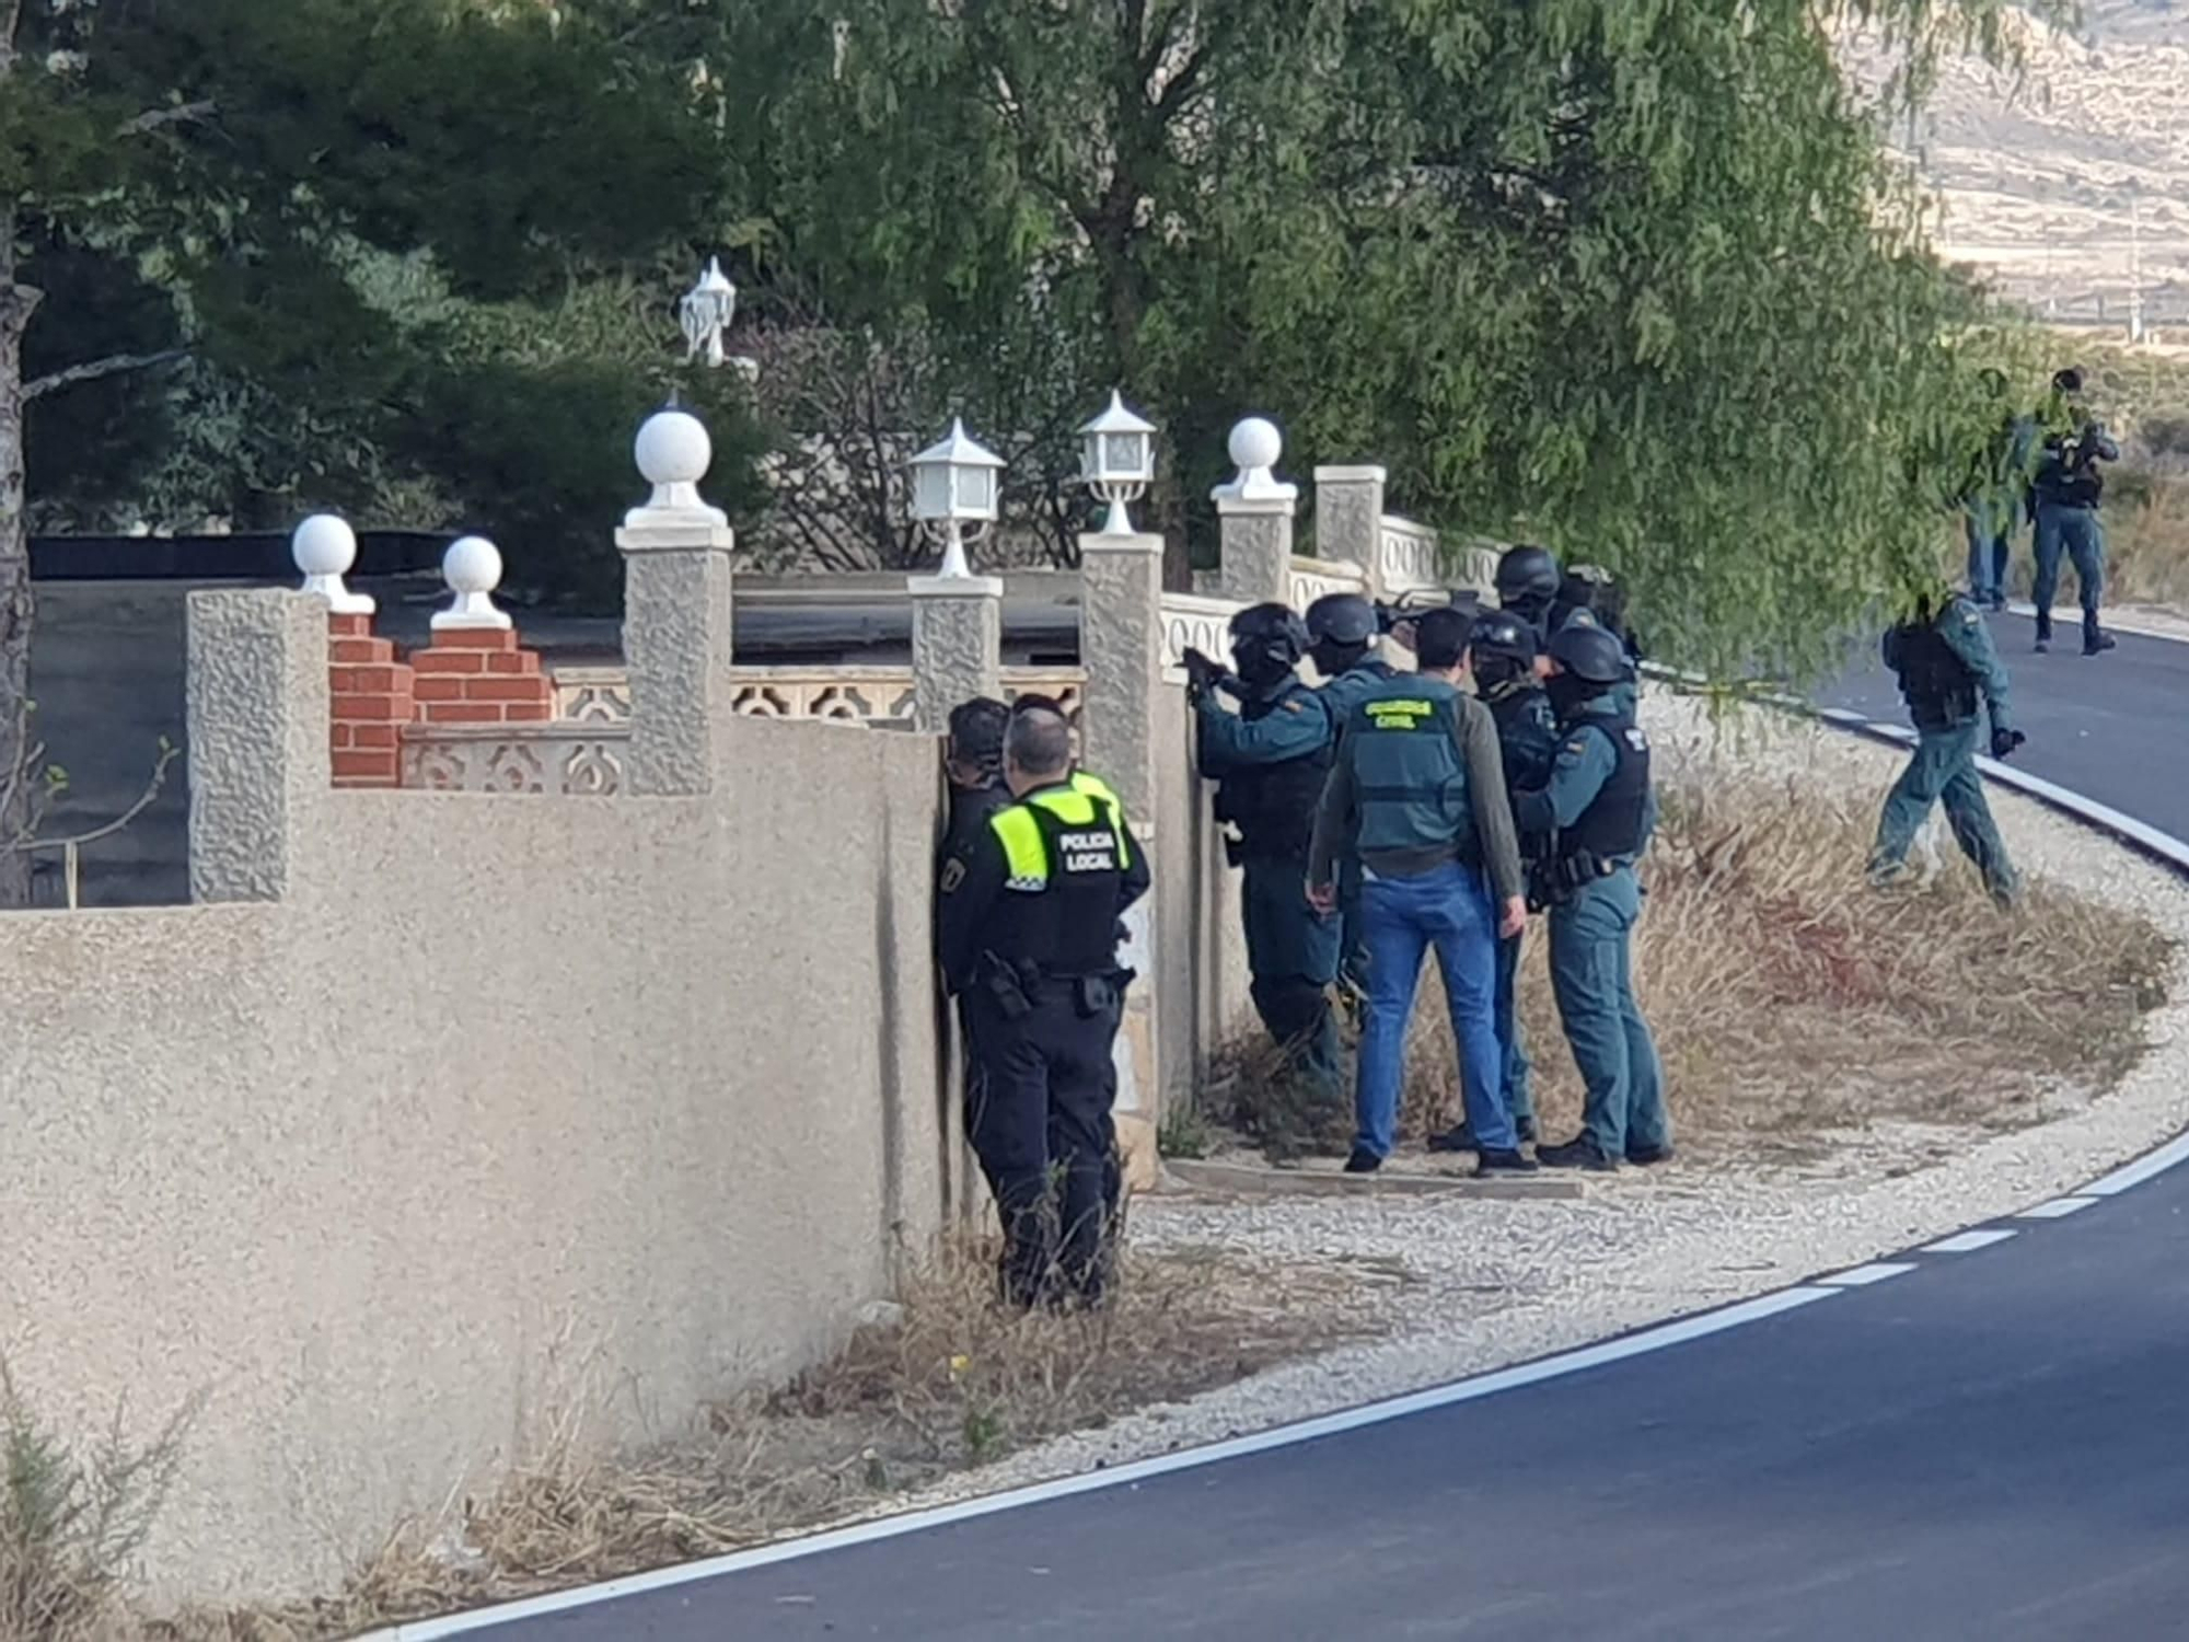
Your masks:
[{"label": "green vest reading GUARDIA CIVIL on the man in jeans", "polygon": [[1353,847],[1436,849],[1458,843],[1475,860],[1475,812],[1460,760],[1460,692],[1403,674],[1368,692],[1346,725],[1359,832]]}]

